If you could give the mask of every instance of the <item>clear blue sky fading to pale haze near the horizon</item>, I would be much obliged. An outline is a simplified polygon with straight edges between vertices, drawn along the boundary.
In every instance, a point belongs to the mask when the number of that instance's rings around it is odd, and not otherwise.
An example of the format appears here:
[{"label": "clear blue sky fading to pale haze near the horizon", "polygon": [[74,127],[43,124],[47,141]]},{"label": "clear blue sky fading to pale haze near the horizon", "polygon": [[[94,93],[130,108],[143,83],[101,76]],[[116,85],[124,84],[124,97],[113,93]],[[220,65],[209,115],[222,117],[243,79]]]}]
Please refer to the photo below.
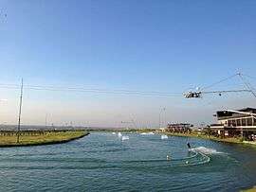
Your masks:
[{"label": "clear blue sky fading to pale haze near the horizon", "polygon": [[[134,120],[137,127],[155,127],[159,116],[161,125],[209,124],[217,110],[256,107],[255,97],[186,99],[26,85],[179,94],[238,71],[256,78],[255,61],[254,0],[0,0],[0,84],[24,79],[26,125],[132,127],[121,121]],[[230,79],[211,91],[240,88],[240,79]],[[0,86],[0,124],[17,123],[18,104],[19,90]]]}]

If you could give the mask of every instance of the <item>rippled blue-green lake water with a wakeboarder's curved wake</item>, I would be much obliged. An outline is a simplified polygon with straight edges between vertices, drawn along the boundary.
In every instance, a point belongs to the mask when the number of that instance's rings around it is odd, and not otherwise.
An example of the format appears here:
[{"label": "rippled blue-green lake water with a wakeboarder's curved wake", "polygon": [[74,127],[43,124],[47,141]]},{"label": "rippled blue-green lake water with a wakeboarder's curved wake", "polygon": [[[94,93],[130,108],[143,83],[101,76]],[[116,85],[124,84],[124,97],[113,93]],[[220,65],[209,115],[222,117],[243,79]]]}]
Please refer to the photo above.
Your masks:
[{"label": "rippled blue-green lake water with a wakeboarder's curved wake", "polygon": [[239,191],[256,184],[255,148],[125,135],[129,140],[93,132],[62,145],[0,148],[1,191]]}]

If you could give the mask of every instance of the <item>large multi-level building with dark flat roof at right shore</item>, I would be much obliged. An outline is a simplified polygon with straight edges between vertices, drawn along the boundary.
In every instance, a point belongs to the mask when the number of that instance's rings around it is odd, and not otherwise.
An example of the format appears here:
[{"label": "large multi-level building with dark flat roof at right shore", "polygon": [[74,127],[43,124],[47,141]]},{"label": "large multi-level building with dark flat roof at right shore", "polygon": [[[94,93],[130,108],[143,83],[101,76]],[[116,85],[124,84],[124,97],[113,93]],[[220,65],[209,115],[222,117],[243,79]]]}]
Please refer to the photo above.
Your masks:
[{"label": "large multi-level building with dark flat roof at right shore", "polygon": [[210,125],[210,131],[221,136],[244,136],[253,139],[256,134],[256,109],[218,111],[217,124]]}]

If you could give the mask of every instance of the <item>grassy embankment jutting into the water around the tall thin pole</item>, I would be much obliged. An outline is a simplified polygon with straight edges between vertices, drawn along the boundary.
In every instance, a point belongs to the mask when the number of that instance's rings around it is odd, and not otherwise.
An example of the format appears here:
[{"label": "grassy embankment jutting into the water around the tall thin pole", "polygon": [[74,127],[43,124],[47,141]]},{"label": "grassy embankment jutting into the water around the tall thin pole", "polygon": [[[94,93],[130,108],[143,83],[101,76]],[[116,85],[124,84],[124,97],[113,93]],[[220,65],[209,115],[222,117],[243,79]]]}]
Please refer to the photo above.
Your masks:
[{"label": "grassy embankment jutting into the water around the tall thin pole", "polygon": [[0,131],[1,147],[38,146],[65,143],[81,138],[88,131],[20,131],[17,143],[17,131]]}]

